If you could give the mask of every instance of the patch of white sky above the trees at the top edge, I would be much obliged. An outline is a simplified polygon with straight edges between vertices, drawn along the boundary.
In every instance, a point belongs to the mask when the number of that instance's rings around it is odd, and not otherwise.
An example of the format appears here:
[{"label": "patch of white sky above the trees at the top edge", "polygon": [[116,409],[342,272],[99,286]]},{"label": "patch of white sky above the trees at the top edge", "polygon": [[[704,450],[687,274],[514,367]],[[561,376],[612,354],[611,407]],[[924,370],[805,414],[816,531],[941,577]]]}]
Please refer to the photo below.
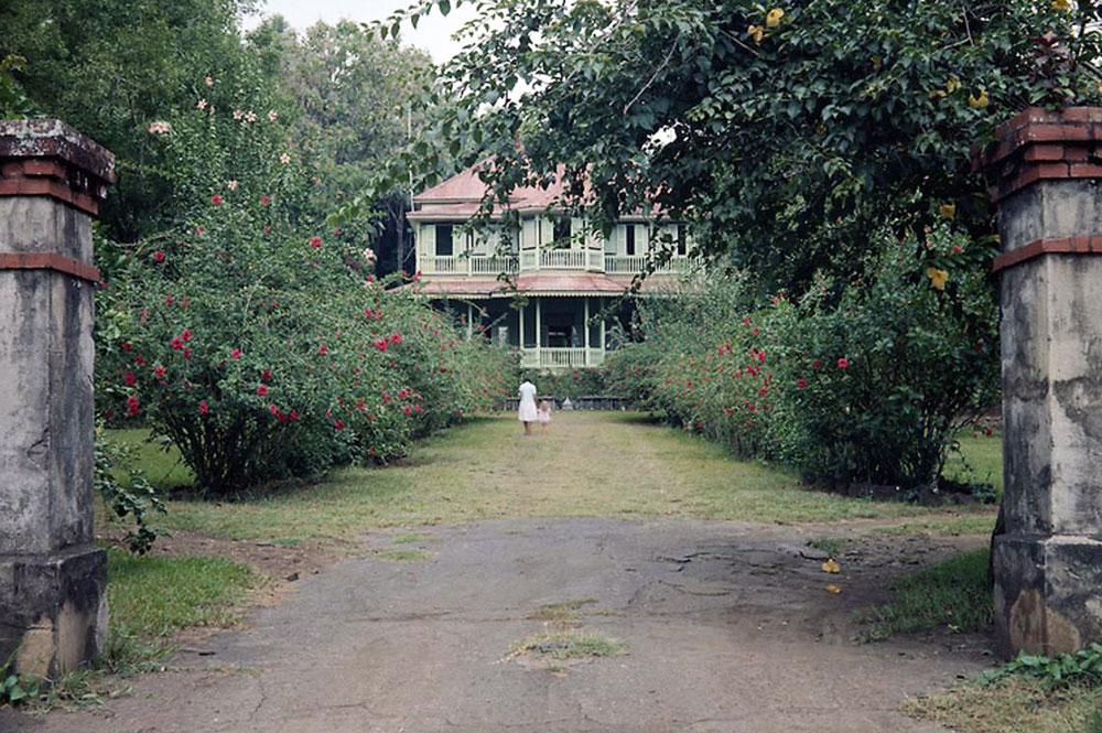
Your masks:
[{"label": "patch of white sky above the trees at the top edge", "polygon": [[[296,31],[310,28],[318,20],[335,23],[347,19],[367,23],[389,18],[396,10],[411,4],[409,0],[267,0],[260,9],[260,17],[247,18],[246,30],[256,28],[263,15],[280,14]],[[465,22],[475,17],[474,3],[464,3],[452,9],[447,17],[434,10],[422,18],[417,29],[409,23],[402,28],[402,42],[426,51],[434,62],[443,63],[460,51],[460,44],[451,40]]]}]

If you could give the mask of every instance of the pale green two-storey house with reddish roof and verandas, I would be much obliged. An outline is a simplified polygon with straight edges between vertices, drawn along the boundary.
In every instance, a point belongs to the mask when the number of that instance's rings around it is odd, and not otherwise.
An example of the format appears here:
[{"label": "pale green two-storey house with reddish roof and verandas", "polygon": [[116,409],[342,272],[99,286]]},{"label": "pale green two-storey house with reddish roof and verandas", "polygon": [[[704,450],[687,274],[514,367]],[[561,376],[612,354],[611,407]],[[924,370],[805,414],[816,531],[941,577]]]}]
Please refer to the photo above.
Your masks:
[{"label": "pale green two-storey house with reddish roof and verandas", "polygon": [[[488,227],[468,225],[485,185],[468,169],[413,197],[419,292],[454,313],[468,336],[484,335],[520,352],[526,368],[597,367],[625,327],[624,299],[653,251],[673,255],[642,283],[641,293],[669,290],[689,269],[687,228],[626,216],[606,238],[552,206],[560,193],[521,188],[512,216]],[[504,222],[508,220],[509,224]],[[507,277],[503,277],[507,276]]]}]

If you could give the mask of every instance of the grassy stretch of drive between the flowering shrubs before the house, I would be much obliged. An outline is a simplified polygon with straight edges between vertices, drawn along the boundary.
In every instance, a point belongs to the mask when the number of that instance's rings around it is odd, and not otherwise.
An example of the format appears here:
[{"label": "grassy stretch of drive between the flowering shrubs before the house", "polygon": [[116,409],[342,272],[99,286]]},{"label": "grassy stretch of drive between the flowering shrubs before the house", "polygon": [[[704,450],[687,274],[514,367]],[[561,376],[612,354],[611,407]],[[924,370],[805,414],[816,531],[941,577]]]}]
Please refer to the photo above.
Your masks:
[{"label": "grassy stretch of drive between the flowering shrubs before the house", "polygon": [[[120,436],[141,439],[132,431]],[[162,486],[162,476],[171,484],[181,475],[171,453],[152,448],[143,460]],[[985,524],[994,510],[963,514]],[[387,468],[344,468],[314,485],[233,505],[174,500],[162,524],[230,539],[294,541],[380,527],[587,516],[818,522],[947,513],[810,491],[787,470],[736,461],[716,444],[638,413],[560,412],[545,434],[531,438],[512,414],[483,418],[430,438]]]}]

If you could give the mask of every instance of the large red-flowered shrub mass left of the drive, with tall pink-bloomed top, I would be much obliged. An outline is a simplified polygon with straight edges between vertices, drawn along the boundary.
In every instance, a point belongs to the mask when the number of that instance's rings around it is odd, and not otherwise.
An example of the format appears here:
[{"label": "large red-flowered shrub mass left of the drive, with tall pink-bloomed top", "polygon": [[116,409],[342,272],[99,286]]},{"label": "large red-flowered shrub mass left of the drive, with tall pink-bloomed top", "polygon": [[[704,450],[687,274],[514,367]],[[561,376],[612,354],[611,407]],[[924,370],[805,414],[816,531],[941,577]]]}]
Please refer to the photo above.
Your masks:
[{"label": "large red-flowered shrub mass left of the drive, with tall pink-bloomed top", "polygon": [[219,494],[403,455],[512,381],[503,352],[303,214],[310,172],[256,109],[203,98],[149,125],[190,172],[181,224],[99,247],[99,407],[168,435]]}]

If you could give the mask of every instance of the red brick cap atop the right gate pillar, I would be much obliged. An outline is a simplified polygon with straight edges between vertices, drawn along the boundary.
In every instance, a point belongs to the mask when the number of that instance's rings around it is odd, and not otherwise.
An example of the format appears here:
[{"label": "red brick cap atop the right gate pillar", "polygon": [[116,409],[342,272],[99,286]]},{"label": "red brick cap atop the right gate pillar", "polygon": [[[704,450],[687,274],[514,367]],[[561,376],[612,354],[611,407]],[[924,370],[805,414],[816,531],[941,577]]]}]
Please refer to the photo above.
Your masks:
[{"label": "red brick cap atop the right gate pillar", "polygon": [[1102,107],[1029,108],[973,148],[972,169],[993,180],[994,203],[1038,181],[1102,179]]}]

